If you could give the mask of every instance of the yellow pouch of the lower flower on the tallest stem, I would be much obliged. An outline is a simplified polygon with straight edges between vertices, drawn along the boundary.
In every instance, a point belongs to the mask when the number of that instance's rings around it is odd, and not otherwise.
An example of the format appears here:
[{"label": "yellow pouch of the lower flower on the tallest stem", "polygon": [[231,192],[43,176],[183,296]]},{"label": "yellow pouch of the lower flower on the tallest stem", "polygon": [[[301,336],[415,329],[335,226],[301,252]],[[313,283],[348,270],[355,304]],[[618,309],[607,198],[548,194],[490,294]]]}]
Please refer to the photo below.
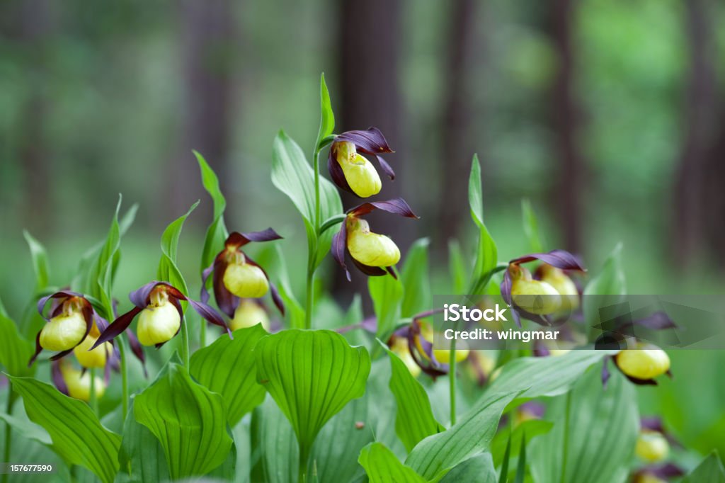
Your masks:
[{"label": "yellow pouch of the lower flower on the tallest stem", "polygon": [[400,260],[400,250],[392,239],[370,232],[367,220],[347,217],[347,249],[363,265],[390,267]]}]

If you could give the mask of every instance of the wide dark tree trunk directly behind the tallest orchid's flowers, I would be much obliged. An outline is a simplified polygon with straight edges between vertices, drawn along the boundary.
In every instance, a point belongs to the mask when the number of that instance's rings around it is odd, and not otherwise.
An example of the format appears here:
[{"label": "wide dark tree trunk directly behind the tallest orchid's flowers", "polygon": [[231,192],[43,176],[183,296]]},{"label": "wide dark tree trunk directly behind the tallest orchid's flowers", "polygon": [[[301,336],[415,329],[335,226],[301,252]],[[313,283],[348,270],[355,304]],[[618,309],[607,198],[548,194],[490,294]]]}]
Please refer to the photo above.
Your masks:
[{"label": "wide dark tree trunk directly behind the tallest orchid's flowers", "polygon": [[[366,129],[371,125],[380,128],[392,149],[397,151],[386,158],[397,178],[391,182],[381,176],[383,189],[376,198],[402,196],[405,141],[400,123],[398,75],[401,1],[344,0],[339,9],[338,28],[341,102],[337,106],[336,131]],[[342,201],[346,210],[363,202],[347,193],[342,194]],[[413,239],[413,230],[407,226],[413,223],[411,220],[389,214],[373,214],[370,220],[373,231],[391,236],[402,250]],[[355,292],[365,294],[367,276],[353,273],[352,283],[348,283],[344,274],[336,271],[334,292],[341,302],[349,301]]]}]

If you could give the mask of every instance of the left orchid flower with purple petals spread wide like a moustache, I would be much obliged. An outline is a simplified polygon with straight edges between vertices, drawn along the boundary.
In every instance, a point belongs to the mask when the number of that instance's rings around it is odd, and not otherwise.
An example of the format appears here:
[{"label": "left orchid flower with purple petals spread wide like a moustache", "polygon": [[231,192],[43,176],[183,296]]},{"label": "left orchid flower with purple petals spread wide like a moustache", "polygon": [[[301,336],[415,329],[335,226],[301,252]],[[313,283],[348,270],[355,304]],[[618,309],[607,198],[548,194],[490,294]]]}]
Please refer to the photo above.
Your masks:
[{"label": "left orchid flower with purple petals spread wide like a moustache", "polygon": [[181,329],[183,323],[181,300],[188,302],[202,318],[225,329],[231,337],[231,331],[216,310],[207,304],[189,299],[166,282],[152,281],[131,292],[129,298],[134,307],[113,321],[103,331],[92,349],[122,334],[136,315],[139,315],[136,330],[138,341],[143,345],[161,347]]}]

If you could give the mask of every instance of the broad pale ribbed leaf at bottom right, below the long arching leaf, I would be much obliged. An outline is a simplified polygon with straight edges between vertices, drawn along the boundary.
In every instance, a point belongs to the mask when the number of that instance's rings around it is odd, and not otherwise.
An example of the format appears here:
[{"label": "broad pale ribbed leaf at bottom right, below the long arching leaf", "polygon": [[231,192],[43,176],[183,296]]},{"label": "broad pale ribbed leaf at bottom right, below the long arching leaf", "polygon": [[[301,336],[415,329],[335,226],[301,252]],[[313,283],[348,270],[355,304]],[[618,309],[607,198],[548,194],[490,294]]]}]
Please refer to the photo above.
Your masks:
[{"label": "broad pale ribbed leaf at bottom right, below the long arching leaf", "polygon": [[639,432],[637,394],[614,373],[607,389],[600,371],[589,371],[568,395],[547,408],[553,429],[531,442],[531,475],[537,482],[624,482]]}]

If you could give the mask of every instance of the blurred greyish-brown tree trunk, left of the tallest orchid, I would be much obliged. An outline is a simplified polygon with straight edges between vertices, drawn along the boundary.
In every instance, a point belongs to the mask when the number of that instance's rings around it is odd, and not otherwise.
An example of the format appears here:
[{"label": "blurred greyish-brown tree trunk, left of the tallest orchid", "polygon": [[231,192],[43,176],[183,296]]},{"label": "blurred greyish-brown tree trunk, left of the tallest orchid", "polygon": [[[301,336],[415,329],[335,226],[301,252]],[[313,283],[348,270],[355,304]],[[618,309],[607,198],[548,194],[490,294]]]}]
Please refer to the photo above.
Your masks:
[{"label": "blurred greyish-brown tree trunk, left of the tallest orchid", "polygon": [[178,215],[191,202],[206,196],[191,149],[200,152],[214,168],[222,190],[231,192],[227,175],[233,116],[232,61],[236,49],[233,2],[187,0],[180,6],[185,97],[181,152],[172,160],[170,216]]}]

